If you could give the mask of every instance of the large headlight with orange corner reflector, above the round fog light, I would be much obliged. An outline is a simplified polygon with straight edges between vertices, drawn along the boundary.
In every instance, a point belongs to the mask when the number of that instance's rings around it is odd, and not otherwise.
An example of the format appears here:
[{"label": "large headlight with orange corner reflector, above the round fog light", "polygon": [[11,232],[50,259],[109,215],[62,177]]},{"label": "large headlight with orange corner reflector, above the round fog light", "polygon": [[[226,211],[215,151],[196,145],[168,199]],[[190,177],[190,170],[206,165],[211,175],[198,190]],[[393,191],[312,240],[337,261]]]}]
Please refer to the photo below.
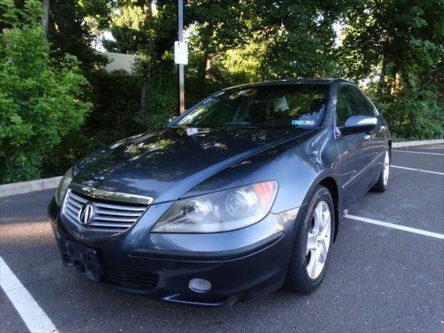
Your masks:
[{"label": "large headlight with orange corner reflector, above the round fog light", "polygon": [[178,200],[151,232],[224,232],[264,219],[278,193],[278,182],[252,185]]}]

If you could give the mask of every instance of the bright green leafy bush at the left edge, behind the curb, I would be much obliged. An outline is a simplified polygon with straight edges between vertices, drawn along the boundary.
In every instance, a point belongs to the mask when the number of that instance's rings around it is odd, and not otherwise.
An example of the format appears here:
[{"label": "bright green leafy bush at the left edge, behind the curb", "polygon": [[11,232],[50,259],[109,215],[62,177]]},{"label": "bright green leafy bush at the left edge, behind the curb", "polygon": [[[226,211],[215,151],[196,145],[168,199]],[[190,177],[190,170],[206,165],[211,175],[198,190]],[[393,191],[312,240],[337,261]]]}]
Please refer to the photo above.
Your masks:
[{"label": "bright green leafy bush at the left edge, behind the curb", "polygon": [[0,182],[15,182],[39,178],[44,155],[92,105],[81,100],[87,80],[76,58],[49,60],[40,1],[0,3]]}]

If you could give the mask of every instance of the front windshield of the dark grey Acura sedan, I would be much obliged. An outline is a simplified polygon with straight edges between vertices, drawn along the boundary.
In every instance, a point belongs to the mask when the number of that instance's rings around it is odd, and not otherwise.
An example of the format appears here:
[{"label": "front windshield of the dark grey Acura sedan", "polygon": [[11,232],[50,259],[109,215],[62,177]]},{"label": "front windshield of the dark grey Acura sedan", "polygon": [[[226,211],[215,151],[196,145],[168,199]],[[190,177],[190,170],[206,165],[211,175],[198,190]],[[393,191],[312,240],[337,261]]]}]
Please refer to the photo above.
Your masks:
[{"label": "front windshield of the dark grey Acura sedan", "polygon": [[228,89],[192,108],[172,126],[314,128],[323,119],[328,85],[264,85]]}]

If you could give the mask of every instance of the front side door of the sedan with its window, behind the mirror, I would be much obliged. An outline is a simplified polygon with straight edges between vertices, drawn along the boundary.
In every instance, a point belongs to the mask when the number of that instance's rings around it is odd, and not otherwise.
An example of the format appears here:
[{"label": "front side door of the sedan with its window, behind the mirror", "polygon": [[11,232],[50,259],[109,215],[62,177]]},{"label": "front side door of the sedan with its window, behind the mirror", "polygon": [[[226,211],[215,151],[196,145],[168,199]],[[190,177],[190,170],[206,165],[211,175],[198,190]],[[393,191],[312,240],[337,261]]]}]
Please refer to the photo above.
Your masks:
[{"label": "front side door of the sedan with its window, behind the mirror", "polygon": [[336,94],[336,146],[339,152],[339,181],[343,191],[343,207],[350,207],[366,194],[373,182],[374,133],[341,134],[348,117],[368,114],[353,85],[341,83]]}]

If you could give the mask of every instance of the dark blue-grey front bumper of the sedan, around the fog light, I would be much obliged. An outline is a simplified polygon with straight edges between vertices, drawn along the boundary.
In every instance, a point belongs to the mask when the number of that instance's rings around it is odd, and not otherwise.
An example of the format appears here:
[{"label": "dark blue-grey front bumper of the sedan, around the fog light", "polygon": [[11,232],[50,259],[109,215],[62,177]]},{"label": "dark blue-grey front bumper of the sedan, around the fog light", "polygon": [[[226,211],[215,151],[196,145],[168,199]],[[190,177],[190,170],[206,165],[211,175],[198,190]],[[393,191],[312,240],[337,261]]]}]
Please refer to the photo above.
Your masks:
[{"label": "dark blue-grey front bumper of the sedan, around the fog light", "polygon": [[[62,222],[54,200],[49,205],[60,250],[65,239],[95,250],[103,268],[99,282],[150,298],[205,306],[230,305],[281,287],[297,214],[297,208],[269,214],[248,228],[218,234],[151,234],[149,216],[142,216],[122,234],[85,239]],[[206,293],[191,290],[193,278],[210,281],[212,288]]]}]

